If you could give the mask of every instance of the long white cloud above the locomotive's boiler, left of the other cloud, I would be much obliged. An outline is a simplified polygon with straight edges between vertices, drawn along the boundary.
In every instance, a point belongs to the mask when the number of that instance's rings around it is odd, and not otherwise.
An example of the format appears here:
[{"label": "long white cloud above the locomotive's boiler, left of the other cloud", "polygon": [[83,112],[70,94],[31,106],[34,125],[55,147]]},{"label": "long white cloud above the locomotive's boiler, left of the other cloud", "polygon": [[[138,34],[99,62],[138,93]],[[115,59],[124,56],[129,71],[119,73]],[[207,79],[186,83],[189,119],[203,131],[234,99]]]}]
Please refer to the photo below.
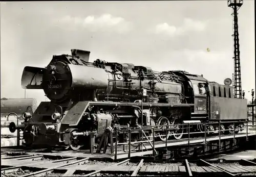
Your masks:
[{"label": "long white cloud above the locomotive's boiler, left of the other cloud", "polygon": [[131,22],[126,21],[122,17],[114,17],[111,14],[103,14],[99,17],[90,15],[86,18],[65,16],[60,20],[54,21],[56,24],[65,24],[65,28],[69,30],[77,30],[77,28],[85,28],[91,32],[117,32],[127,33],[132,29]]}]

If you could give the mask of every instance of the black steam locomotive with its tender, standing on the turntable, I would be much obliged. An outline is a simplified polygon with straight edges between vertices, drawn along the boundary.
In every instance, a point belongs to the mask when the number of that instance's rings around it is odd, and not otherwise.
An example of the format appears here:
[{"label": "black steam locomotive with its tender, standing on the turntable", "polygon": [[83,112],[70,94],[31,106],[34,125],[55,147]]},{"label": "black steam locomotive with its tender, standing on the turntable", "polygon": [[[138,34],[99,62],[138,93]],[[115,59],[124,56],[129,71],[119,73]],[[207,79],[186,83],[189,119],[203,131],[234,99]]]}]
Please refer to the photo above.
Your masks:
[{"label": "black steam locomotive with its tender, standing on the turntable", "polygon": [[[208,82],[203,75],[185,71],[153,71],[131,63],[89,62],[90,52],[71,49],[72,55],[53,56],[45,68],[26,66],[22,87],[43,89],[51,102],[41,102],[35,112],[25,112],[22,125],[9,129],[23,131],[25,145],[65,145],[73,150],[88,144],[93,131],[97,140],[106,128],[118,130],[114,140],[123,142],[122,129],[157,125],[161,141],[180,139],[189,122],[245,120],[247,101],[234,98],[232,87]],[[163,125],[174,131],[167,131]],[[221,129],[233,129],[232,123]],[[162,127],[161,127],[162,126]],[[235,124],[243,128],[243,123]],[[208,125],[213,131],[218,125]],[[202,126],[196,130],[204,131]],[[136,141],[138,132],[133,131]],[[145,131],[152,136],[152,131]]]}]

